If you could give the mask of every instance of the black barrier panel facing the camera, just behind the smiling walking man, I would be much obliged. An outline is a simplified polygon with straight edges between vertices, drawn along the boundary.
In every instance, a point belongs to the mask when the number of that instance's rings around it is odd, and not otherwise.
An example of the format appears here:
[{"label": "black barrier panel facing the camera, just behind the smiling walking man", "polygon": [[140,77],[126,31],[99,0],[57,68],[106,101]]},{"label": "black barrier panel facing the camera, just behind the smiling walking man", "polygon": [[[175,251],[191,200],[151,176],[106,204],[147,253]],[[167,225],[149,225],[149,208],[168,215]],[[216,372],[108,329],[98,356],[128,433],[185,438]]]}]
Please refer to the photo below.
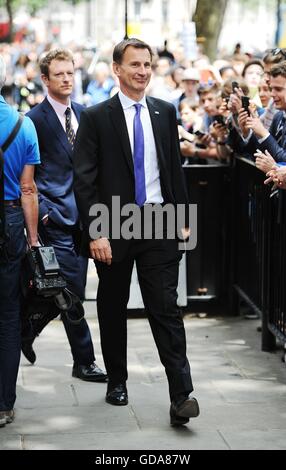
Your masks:
[{"label": "black barrier panel facing the camera, just behind the smiling walking man", "polygon": [[231,173],[229,165],[184,166],[191,204],[197,204],[197,246],[187,252],[187,297],[192,311],[228,307]]}]

